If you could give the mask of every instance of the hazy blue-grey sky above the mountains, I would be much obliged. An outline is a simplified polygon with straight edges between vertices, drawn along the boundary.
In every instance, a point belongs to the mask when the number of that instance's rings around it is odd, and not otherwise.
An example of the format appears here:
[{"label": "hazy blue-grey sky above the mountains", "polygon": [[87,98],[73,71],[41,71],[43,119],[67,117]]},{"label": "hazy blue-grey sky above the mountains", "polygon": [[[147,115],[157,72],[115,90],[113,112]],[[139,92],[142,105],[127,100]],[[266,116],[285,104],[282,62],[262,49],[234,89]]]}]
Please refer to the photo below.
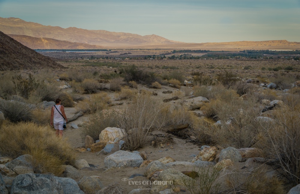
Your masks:
[{"label": "hazy blue-grey sky above the mountains", "polygon": [[300,42],[300,0],[0,0],[0,17],[182,42]]}]

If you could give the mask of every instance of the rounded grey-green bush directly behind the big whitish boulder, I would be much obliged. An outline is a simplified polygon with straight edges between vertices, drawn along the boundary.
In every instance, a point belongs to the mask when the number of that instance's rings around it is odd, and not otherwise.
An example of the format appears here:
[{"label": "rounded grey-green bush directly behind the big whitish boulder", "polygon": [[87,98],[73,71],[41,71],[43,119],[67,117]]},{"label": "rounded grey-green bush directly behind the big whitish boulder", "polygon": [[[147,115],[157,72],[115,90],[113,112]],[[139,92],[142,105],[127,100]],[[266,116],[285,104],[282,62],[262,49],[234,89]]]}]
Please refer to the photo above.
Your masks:
[{"label": "rounded grey-green bush directly behind the big whitish boulder", "polygon": [[105,109],[96,112],[91,118],[83,123],[82,138],[86,135],[91,136],[95,141],[99,139],[99,134],[107,127],[119,127],[122,119],[122,111]]}]

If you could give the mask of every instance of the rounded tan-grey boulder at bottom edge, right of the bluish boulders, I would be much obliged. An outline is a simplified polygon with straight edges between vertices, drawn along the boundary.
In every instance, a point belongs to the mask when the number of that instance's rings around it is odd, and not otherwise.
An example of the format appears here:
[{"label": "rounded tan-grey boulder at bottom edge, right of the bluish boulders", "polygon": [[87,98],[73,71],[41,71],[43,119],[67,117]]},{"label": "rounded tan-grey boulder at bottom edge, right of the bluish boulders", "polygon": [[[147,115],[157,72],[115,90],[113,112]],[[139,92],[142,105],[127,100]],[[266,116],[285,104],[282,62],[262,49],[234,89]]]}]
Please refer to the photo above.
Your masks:
[{"label": "rounded tan-grey boulder at bottom edge, right of the bluish boulders", "polygon": [[104,188],[101,181],[96,177],[82,177],[78,181],[78,186],[85,194],[95,194]]}]

